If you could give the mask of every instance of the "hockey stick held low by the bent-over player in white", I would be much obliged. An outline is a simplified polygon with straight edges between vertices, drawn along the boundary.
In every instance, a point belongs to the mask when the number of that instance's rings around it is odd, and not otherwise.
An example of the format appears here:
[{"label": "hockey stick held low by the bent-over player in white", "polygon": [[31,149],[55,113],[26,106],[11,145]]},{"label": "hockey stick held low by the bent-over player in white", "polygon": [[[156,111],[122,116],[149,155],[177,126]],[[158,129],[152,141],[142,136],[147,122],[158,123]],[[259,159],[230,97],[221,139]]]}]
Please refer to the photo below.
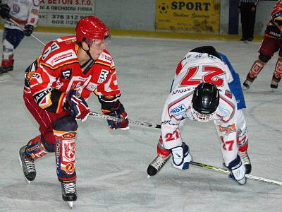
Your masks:
[{"label": "hockey stick held low by the bent-over player in white", "polygon": [[[207,165],[207,164],[204,164],[204,163],[197,163],[195,161],[191,161],[190,164],[198,166],[198,167],[203,167],[203,168],[209,169],[209,170],[214,170],[216,172],[230,174],[229,170],[221,168],[221,167],[216,167],[216,166],[213,166],[213,165]],[[273,180],[273,179],[266,179],[264,177],[257,177],[257,176],[254,176],[254,175],[245,175],[245,177],[247,177],[247,179],[252,179],[252,180],[257,180],[257,181],[260,181],[260,182],[266,182],[266,183],[276,184],[276,185],[282,186],[282,182],[276,181],[276,180]]]}]

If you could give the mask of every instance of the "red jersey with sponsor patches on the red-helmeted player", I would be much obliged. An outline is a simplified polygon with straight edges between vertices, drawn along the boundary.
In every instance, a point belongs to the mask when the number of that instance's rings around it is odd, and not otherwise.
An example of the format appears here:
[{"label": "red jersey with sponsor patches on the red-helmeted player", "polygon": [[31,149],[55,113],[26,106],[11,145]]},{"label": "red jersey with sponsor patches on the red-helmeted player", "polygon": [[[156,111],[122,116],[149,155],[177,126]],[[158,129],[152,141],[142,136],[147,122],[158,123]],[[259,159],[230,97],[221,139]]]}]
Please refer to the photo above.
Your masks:
[{"label": "red jersey with sponsor patches on the red-helmeted player", "polygon": [[78,90],[86,100],[94,91],[99,95],[121,93],[111,54],[104,50],[98,59],[80,66],[75,41],[75,36],[68,36],[49,42],[25,71],[25,92],[32,93],[37,105],[49,112],[63,110],[70,90]]}]

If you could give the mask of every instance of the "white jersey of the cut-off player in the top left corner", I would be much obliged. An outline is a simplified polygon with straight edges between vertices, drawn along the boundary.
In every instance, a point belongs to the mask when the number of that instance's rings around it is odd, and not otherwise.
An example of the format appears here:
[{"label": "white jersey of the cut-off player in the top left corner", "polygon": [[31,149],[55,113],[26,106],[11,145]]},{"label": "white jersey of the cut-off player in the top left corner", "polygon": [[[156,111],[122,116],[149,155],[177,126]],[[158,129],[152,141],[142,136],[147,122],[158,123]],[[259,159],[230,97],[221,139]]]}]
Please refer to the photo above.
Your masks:
[{"label": "white jersey of the cut-off player in the top left corner", "polygon": [[[24,27],[26,24],[37,25],[39,15],[39,0],[8,0],[6,4],[11,8],[9,15],[16,23]],[[4,23],[5,28],[22,30],[9,18]],[[23,30],[22,30],[23,31]]]}]

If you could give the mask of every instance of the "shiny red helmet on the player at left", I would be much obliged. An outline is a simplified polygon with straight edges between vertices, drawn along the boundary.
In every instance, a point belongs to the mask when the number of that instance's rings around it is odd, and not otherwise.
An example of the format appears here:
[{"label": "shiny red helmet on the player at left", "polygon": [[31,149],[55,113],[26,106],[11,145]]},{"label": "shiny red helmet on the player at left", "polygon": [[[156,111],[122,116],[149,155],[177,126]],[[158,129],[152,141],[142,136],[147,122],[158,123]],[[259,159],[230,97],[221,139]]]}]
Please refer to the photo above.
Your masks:
[{"label": "shiny red helmet on the player at left", "polygon": [[104,40],[109,37],[109,28],[95,16],[87,16],[78,21],[75,28],[78,42],[84,40]]}]

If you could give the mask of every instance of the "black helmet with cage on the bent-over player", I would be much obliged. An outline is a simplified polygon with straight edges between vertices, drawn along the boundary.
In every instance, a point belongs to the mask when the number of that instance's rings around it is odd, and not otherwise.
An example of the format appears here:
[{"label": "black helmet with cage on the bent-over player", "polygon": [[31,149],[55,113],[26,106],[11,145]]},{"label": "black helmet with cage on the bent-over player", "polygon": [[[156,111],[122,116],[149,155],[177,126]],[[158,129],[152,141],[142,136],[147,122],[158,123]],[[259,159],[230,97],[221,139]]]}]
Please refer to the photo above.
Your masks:
[{"label": "black helmet with cage on the bent-over player", "polygon": [[200,83],[194,90],[191,112],[200,122],[208,122],[219,106],[219,90],[211,83]]}]

